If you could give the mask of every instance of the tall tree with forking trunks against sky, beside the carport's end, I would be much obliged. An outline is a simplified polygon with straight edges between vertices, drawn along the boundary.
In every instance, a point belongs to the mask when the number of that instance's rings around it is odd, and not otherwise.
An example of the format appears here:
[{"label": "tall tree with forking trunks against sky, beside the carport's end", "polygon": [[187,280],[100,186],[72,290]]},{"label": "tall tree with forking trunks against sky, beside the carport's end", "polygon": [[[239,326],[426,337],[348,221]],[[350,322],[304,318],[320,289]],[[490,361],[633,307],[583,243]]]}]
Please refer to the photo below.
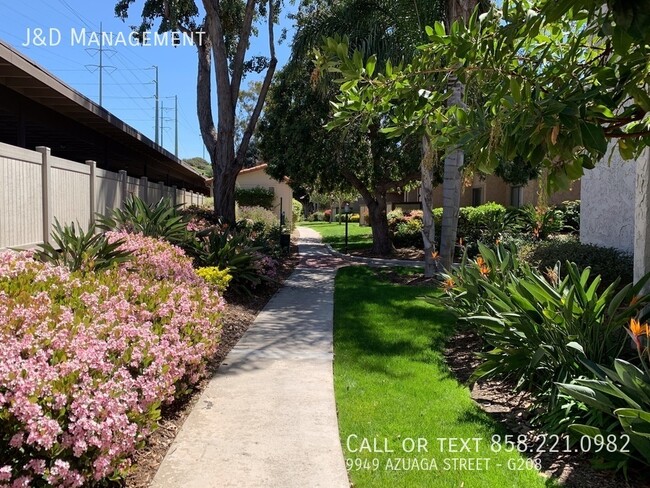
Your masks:
[{"label": "tall tree with forking trunks against sky, beside the carport's end", "polygon": [[[115,14],[126,20],[135,0],[119,0]],[[277,65],[273,24],[279,0],[146,0],[138,32],[159,21],[159,32],[179,30],[192,37],[198,56],[197,114],[201,136],[214,173],[214,207],[217,214],[235,220],[235,182],[246,160],[248,146],[262,112]],[[269,58],[246,59],[257,21],[266,18]],[[212,112],[212,63],[216,74],[217,121]],[[235,118],[241,83],[246,72],[266,70],[259,96],[239,145],[235,145]]]}]

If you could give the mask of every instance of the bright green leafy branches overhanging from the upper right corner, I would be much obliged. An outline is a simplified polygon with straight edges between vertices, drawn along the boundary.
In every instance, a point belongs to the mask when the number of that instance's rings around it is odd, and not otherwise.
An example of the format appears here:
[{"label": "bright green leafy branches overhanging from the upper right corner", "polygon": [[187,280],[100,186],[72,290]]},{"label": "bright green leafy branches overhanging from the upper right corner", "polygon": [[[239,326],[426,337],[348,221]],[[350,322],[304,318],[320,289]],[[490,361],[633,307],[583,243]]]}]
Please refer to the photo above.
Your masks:
[{"label": "bright green leafy branches overhanging from the upper right corner", "polygon": [[[321,67],[342,74],[330,126],[380,119],[392,136],[424,131],[434,149],[464,149],[482,173],[524,161],[545,168],[548,191],[566,188],[609,141],[625,159],[650,142],[648,11],[647,1],[504,1],[434,23],[410,63],[382,70],[330,40]],[[456,80],[462,104],[449,103]]]}]

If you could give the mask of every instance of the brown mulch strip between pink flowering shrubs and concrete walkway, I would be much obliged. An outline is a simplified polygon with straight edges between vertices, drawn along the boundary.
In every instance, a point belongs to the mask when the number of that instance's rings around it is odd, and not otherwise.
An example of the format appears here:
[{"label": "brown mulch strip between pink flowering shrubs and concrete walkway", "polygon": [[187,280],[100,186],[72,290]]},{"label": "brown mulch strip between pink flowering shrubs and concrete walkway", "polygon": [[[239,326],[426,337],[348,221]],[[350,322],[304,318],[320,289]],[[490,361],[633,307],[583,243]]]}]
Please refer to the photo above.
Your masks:
[{"label": "brown mulch strip between pink flowering shrubs and concrete walkway", "polygon": [[279,269],[279,279],[276,283],[267,284],[256,290],[254,296],[229,296],[226,294],[226,310],[224,312],[221,342],[215,357],[208,365],[208,375],[197,386],[189,398],[183,402],[163,408],[162,418],[158,422],[158,429],[149,437],[147,445],[136,452],[133,458],[134,467],[120,486],[126,488],[148,488],[158,470],[167,450],[176,438],[183,422],[196,404],[201,392],[208,384],[209,378],[219,369],[219,365],[226,358],[230,350],[235,347],[239,339],[248,330],[257,317],[284,281],[293,272],[299,262],[298,248],[292,246],[291,253]]}]

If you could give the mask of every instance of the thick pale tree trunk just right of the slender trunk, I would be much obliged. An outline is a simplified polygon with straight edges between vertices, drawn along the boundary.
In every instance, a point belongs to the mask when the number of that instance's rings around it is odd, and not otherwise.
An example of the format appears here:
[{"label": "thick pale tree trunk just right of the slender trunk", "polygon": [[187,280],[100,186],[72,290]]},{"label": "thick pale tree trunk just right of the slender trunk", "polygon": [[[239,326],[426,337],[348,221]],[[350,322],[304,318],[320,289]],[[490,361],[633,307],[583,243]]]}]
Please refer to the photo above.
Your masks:
[{"label": "thick pale tree trunk just right of the slender trunk", "polygon": [[[450,87],[453,90],[450,105],[462,103],[463,84],[457,80]],[[465,153],[455,149],[445,158],[445,172],[442,182],[442,229],[440,237],[440,264],[450,270],[454,260],[456,234],[458,231],[458,213],[460,211],[461,175]]]}]

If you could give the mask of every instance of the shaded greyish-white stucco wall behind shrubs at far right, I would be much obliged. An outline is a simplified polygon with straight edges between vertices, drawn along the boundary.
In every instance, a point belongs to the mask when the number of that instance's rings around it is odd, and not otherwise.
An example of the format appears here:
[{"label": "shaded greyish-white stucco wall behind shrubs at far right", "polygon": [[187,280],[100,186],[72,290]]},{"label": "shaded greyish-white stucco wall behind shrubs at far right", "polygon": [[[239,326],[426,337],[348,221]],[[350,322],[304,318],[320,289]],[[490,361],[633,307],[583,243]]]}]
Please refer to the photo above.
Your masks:
[{"label": "shaded greyish-white stucco wall behind shrubs at far right", "polygon": [[580,241],[634,252],[636,162],[618,149],[585,170],[580,196]]}]

